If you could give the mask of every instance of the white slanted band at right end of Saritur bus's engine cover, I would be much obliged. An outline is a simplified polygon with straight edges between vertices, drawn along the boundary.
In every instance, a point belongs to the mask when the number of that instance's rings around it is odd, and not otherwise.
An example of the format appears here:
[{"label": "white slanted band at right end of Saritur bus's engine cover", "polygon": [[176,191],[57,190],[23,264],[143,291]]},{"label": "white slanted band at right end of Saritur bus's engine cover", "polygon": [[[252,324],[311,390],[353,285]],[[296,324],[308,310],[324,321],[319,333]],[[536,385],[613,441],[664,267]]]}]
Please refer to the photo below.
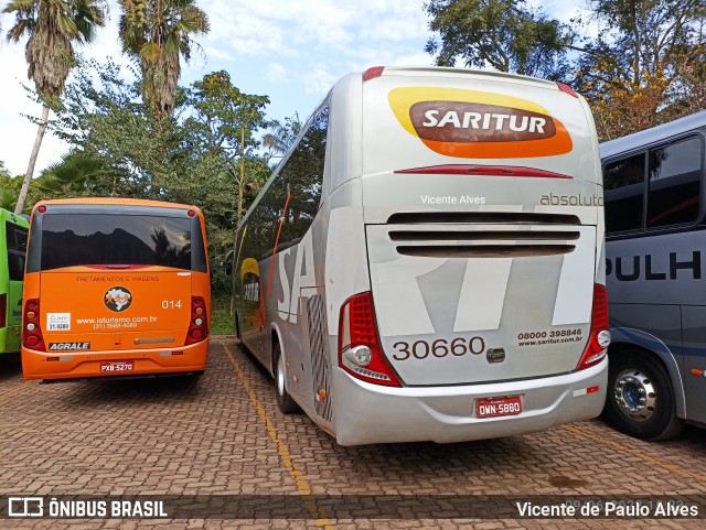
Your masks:
[{"label": "white slanted band at right end of Saritur bus's engine cover", "polygon": [[553,326],[590,321],[596,271],[596,228],[579,227],[580,237],[573,252],[564,255],[554,304]]}]

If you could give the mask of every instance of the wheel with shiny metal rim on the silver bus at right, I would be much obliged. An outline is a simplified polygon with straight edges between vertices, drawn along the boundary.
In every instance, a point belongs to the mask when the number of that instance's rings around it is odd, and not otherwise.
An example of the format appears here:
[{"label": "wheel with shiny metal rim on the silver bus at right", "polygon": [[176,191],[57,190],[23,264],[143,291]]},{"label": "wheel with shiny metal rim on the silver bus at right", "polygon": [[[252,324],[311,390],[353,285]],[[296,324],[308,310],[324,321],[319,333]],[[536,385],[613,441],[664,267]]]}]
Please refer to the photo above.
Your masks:
[{"label": "wheel with shiny metal rim on the silver bus at right", "polygon": [[609,359],[606,413],[613,425],[651,442],[676,436],[684,422],[676,417],[674,392],[662,366],[642,351]]}]

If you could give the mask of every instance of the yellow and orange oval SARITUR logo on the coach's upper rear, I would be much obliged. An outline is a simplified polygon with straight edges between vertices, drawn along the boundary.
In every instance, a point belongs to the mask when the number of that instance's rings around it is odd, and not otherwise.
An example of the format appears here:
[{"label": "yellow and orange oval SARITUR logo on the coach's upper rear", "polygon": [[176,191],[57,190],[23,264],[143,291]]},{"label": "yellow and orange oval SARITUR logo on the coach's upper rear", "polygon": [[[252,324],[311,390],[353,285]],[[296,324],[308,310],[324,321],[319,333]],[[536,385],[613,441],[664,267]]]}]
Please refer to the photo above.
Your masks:
[{"label": "yellow and orange oval SARITUR logo on the coach's upper rear", "polygon": [[388,95],[399,123],[447,156],[549,156],[573,149],[566,127],[526,99],[454,88],[403,87]]}]

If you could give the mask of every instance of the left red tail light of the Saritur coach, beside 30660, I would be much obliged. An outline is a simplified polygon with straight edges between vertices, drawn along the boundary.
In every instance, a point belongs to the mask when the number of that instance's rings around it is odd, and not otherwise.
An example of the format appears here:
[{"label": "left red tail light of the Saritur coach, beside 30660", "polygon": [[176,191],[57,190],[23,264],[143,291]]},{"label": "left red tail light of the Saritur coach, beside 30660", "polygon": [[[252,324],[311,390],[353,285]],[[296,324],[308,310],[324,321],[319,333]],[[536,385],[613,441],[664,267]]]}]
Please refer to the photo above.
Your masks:
[{"label": "left red tail light of the Saritur coach, beside 30660", "polygon": [[356,294],[341,306],[339,366],[363,381],[402,387],[379,346],[370,292]]}]

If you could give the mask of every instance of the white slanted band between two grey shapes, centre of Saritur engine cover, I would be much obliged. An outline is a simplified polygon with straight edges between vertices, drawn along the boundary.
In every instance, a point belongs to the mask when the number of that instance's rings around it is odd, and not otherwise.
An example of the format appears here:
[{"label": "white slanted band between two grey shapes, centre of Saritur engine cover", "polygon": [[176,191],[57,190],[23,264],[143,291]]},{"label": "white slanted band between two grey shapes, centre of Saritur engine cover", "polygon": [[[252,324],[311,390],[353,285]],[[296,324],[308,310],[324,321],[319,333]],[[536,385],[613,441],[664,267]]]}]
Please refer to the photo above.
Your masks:
[{"label": "white slanted band between two grey shapes, centre of Saritur engine cover", "polygon": [[468,260],[454,332],[500,327],[511,266],[512,258]]}]

